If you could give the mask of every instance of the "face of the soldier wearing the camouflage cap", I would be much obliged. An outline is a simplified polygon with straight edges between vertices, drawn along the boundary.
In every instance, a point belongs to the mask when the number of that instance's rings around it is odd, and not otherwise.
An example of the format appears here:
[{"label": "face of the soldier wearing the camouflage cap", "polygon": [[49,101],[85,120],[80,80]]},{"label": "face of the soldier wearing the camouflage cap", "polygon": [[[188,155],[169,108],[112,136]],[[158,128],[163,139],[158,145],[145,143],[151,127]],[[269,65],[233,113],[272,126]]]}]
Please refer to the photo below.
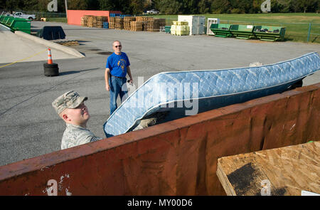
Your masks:
[{"label": "face of the soldier wearing the camouflage cap", "polygon": [[87,110],[87,106],[84,103],[74,109],[68,109],[67,115],[70,122],[75,125],[83,125],[90,118],[89,110]]}]

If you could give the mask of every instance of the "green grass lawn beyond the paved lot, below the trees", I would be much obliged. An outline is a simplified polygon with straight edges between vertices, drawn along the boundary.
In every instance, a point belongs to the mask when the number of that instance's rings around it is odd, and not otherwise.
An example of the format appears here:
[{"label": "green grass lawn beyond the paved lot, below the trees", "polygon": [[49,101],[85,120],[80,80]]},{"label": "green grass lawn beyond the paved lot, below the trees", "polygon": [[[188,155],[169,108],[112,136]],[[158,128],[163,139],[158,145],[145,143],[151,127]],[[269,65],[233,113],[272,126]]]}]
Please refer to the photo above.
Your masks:
[{"label": "green grass lawn beyond the paved lot, below the trees", "polygon": [[[255,26],[282,26],[286,27],[287,41],[306,42],[309,33],[310,43],[320,43],[320,14],[316,13],[282,13],[282,14],[195,14],[208,18],[220,19],[220,23],[255,25]],[[178,15],[156,15],[156,18],[165,18],[166,25],[178,20]],[[47,21],[66,23],[66,18],[50,18]],[[206,23],[207,26],[207,23]]]}]

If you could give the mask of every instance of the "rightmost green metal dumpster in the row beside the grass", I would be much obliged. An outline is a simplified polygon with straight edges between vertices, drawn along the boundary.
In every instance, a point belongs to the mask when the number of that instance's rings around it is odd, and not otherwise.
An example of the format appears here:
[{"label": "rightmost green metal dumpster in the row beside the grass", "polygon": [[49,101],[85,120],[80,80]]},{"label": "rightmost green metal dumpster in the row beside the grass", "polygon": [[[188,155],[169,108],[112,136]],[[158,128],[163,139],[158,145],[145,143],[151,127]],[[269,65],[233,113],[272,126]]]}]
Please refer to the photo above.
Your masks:
[{"label": "rightmost green metal dumpster in the row beside the grass", "polygon": [[284,41],[286,28],[280,26],[255,26],[253,33],[262,41]]}]

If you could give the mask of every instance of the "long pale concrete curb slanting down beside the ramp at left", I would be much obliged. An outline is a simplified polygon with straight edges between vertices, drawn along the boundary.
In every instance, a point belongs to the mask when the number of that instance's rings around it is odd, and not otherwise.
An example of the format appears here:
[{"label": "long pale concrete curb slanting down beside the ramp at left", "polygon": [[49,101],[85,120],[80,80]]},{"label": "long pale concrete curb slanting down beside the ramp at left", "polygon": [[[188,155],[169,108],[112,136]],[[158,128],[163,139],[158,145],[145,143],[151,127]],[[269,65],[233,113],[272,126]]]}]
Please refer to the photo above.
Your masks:
[{"label": "long pale concrete curb slanting down beside the ramp at left", "polygon": [[78,57],[78,58],[83,58],[83,57],[85,57],[85,56],[83,56],[81,53],[79,53],[78,51],[76,51],[76,50],[73,49],[73,48],[69,48],[69,47],[67,47],[67,46],[62,46],[62,45],[60,45],[60,44],[58,44],[58,43],[53,43],[52,41],[48,41],[48,40],[46,40],[46,39],[39,38],[39,37],[37,37],[37,36],[32,36],[32,35],[30,35],[30,34],[28,34],[28,33],[22,32],[22,31],[15,31],[14,33],[15,33],[16,35],[18,35],[18,36],[22,36],[22,37],[24,37],[24,38],[28,38],[28,39],[30,39],[30,40],[32,40],[32,41],[36,41],[37,43],[41,43],[41,44],[43,44],[43,45],[45,45],[45,46],[48,46],[48,47],[50,47],[50,48],[55,48],[55,49],[57,49],[57,50],[59,50],[59,51],[63,51],[63,52],[65,52],[65,53],[69,53],[70,55],[76,56],[76,57]]}]

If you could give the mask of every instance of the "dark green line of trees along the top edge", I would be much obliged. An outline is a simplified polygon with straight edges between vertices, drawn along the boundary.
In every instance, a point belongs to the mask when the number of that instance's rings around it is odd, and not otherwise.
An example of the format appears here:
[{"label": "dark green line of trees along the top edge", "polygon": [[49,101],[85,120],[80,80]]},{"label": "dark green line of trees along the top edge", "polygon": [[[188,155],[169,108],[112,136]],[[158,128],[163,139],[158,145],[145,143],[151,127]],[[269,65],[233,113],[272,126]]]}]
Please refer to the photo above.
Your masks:
[{"label": "dark green line of trees along the top edge", "polygon": [[[47,11],[52,0],[0,0],[6,11]],[[58,1],[58,12],[65,13],[65,0]],[[265,0],[68,0],[68,9],[122,11],[142,14],[157,9],[161,14],[255,14]],[[271,0],[271,12],[318,12],[320,0]]]}]

